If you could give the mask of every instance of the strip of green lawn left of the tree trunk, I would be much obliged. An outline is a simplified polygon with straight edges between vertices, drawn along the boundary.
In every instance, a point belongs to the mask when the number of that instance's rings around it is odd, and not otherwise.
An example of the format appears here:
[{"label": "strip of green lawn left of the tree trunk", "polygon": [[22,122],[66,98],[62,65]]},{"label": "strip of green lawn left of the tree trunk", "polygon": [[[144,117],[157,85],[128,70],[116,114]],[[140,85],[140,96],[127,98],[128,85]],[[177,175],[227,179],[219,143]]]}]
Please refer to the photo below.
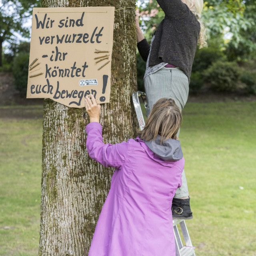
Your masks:
[{"label": "strip of green lawn left of the tree trunk", "polygon": [[[30,119],[23,119],[24,113]],[[0,118],[0,255],[36,256],[40,229],[42,106],[0,107],[0,115],[4,115]]]}]

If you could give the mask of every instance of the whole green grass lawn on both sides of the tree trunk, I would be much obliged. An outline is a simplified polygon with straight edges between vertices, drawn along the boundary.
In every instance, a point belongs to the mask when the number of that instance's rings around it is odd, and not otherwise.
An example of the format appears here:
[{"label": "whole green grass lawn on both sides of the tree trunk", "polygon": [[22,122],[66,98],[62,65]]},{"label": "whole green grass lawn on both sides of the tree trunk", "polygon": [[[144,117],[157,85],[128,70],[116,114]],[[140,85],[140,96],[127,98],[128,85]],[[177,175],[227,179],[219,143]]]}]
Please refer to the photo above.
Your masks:
[{"label": "whole green grass lawn on both sides of the tree trunk", "polygon": [[[13,114],[27,107],[8,107],[10,116],[4,108],[0,255],[36,256],[42,106],[34,106],[30,119]],[[256,256],[256,102],[188,103],[183,118],[180,141],[194,215],[186,224],[196,256]]]}]

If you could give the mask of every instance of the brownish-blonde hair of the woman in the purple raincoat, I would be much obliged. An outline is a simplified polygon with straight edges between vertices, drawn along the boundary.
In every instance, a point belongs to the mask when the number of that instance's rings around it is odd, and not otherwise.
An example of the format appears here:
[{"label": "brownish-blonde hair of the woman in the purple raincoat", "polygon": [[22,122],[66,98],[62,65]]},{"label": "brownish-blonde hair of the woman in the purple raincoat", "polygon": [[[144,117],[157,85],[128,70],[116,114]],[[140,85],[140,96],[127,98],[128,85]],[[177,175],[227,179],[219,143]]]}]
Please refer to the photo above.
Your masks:
[{"label": "brownish-blonde hair of the woman in the purple raincoat", "polygon": [[181,123],[182,115],[174,100],[161,98],[154,104],[144,129],[138,131],[138,136],[144,140],[156,140],[159,134],[161,143],[167,139],[177,140]]}]

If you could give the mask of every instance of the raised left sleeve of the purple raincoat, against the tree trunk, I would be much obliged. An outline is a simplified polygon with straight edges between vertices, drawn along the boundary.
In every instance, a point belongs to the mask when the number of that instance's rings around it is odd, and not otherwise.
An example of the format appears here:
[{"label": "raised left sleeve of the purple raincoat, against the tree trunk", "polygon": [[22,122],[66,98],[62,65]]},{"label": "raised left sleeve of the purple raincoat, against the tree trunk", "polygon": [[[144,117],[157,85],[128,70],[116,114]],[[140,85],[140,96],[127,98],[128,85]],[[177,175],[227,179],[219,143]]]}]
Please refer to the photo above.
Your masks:
[{"label": "raised left sleeve of the purple raincoat, against the tree trunk", "polygon": [[104,144],[102,138],[102,126],[92,122],[86,126],[86,148],[90,158],[101,163],[105,167],[120,168],[125,162],[130,144],[126,142],[118,144]]}]

